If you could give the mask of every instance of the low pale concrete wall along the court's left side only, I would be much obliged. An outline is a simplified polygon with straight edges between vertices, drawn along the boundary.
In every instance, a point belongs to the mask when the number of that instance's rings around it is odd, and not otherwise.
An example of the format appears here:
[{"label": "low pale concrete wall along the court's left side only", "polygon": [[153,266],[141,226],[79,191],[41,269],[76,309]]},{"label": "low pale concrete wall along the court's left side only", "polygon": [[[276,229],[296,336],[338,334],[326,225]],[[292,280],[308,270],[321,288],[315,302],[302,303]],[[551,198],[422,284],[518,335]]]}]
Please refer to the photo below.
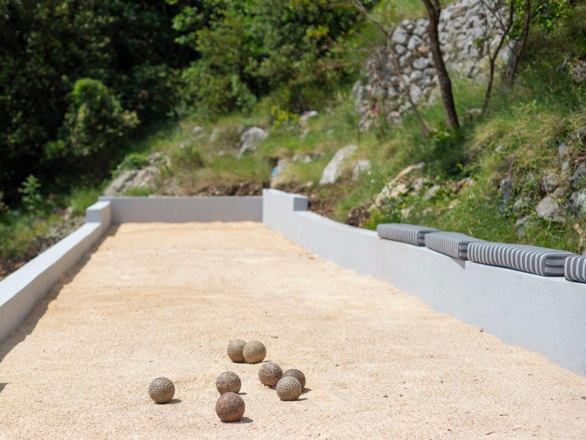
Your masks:
[{"label": "low pale concrete wall along the court's left side only", "polygon": [[110,226],[110,202],[87,208],[87,222],[0,281],[0,342],[21,325],[38,300]]}]

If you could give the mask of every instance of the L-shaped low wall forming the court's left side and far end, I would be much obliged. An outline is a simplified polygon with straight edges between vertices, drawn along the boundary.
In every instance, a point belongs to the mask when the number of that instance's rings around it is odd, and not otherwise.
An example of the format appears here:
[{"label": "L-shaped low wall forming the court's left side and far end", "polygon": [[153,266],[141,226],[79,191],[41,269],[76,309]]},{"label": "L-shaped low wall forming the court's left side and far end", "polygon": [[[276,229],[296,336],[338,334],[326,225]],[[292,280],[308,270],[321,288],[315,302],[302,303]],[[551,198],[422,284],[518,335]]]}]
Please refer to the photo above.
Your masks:
[{"label": "L-shaped low wall forming the court's left side and far end", "polygon": [[124,222],[257,221],[263,197],[99,197],[86,224],[0,281],[0,343],[21,325],[38,300],[98,241]]}]

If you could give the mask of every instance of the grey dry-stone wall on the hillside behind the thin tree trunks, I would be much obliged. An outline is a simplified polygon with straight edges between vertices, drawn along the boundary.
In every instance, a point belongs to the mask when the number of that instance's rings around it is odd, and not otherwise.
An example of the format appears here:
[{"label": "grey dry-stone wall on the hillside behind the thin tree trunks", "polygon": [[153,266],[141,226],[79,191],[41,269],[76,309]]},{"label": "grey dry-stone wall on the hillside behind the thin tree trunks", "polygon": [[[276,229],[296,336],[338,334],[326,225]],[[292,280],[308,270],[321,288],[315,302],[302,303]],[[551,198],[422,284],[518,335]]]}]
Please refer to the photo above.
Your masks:
[{"label": "grey dry-stone wall on the hillside behind the thin tree trunks", "polygon": [[[352,89],[356,111],[362,116],[360,127],[363,130],[380,112],[399,123],[401,115],[411,110],[399,72],[416,103],[424,104],[434,99],[432,92],[437,89],[438,77],[430,52],[428,25],[428,19],[420,18],[403,21],[397,26],[392,43],[398,66],[390,53],[370,57],[364,62],[362,72],[366,84],[357,82]],[[480,0],[462,0],[447,6],[441,12],[438,31],[448,69],[471,78],[478,77],[481,70],[488,67],[486,53],[489,45],[494,47],[502,34],[495,13],[485,8]],[[485,35],[493,38],[479,46],[477,41]],[[501,49],[499,56],[500,60],[509,56],[506,47]]]}]

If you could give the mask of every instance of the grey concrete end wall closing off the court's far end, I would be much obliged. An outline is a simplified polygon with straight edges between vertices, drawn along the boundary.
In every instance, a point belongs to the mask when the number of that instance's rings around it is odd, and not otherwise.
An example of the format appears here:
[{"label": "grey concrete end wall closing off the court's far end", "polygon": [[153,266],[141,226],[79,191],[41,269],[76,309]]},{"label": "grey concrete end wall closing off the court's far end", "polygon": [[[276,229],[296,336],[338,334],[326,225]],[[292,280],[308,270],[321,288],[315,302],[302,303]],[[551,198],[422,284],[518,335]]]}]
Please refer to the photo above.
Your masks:
[{"label": "grey concrete end wall closing off the court's far end", "polygon": [[237,222],[263,216],[263,197],[100,197],[110,201],[112,223]]}]

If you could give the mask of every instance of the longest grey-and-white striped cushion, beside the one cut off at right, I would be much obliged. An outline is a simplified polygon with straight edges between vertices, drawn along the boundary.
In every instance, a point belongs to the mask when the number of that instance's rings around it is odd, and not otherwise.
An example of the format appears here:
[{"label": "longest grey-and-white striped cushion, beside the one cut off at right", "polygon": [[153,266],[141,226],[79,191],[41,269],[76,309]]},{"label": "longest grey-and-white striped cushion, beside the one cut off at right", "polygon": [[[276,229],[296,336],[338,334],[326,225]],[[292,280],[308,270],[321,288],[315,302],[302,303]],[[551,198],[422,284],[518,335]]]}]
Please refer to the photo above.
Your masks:
[{"label": "longest grey-and-white striped cushion, beside the one cut off at right", "polygon": [[573,252],[510,243],[481,242],[468,246],[470,261],[542,276],[564,276],[564,260],[574,255]]}]

